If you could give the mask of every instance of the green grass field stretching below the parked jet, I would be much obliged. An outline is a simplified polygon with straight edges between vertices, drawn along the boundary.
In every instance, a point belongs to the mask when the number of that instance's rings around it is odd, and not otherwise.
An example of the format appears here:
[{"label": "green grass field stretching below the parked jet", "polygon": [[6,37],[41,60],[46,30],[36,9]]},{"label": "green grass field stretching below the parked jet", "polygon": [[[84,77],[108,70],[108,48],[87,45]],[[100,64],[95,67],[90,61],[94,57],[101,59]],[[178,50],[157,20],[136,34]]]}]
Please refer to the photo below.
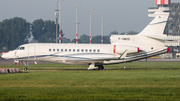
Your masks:
[{"label": "green grass field stretching below the parked jet", "polygon": [[[127,66],[124,69],[121,67]],[[87,71],[88,66],[30,65],[28,71],[0,75],[0,101],[180,100],[180,63],[135,62]],[[24,66],[0,66],[23,69]],[[71,69],[75,71],[71,71]]]}]

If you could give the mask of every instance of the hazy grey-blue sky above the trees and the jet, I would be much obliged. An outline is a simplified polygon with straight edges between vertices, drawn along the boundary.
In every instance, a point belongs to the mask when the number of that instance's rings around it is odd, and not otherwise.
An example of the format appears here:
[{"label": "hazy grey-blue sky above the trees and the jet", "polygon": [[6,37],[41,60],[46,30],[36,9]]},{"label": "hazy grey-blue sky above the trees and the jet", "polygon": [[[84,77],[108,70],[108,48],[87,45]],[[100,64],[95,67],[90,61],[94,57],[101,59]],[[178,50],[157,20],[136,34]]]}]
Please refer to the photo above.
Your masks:
[{"label": "hazy grey-blue sky above the trees and the jet", "polygon": [[[78,34],[89,35],[90,13],[92,12],[92,36],[101,33],[101,17],[104,16],[104,35],[112,31],[119,33],[127,31],[140,32],[151,20],[148,18],[148,8],[153,7],[155,0],[65,0],[62,2],[62,30],[65,37],[75,38],[76,9],[78,8]],[[180,2],[180,0],[172,0]],[[22,17],[28,22],[36,19],[55,21],[56,0],[0,0],[0,22],[4,19]]]}]

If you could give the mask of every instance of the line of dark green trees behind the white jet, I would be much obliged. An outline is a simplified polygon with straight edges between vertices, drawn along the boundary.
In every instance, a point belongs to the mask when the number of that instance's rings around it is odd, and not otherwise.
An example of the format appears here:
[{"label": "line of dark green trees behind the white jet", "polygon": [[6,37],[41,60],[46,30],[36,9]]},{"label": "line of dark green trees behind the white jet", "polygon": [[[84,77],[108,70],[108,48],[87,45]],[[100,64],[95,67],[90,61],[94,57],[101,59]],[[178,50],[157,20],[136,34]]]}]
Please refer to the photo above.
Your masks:
[{"label": "line of dark green trees behind the white jet", "polygon": [[[28,43],[30,37],[33,36],[33,41],[38,43],[55,43],[56,42],[56,24],[51,20],[37,19],[32,23],[27,22],[20,17],[14,17],[12,19],[5,19],[0,22],[0,51],[13,50],[19,45]],[[104,36],[104,44],[110,43],[110,35],[119,34],[117,31],[111,32],[109,35]],[[127,33],[121,33],[127,34]],[[134,31],[128,32],[128,34],[137,34]],[[64,37],[62,31],[62,43],[75,43],[76,39],[70,40]],[[88,35],[81,35],[78,39],[78,43],[89,43],[90,39]],[[93,36],[92,43],[100,44],[101,36]]]}]

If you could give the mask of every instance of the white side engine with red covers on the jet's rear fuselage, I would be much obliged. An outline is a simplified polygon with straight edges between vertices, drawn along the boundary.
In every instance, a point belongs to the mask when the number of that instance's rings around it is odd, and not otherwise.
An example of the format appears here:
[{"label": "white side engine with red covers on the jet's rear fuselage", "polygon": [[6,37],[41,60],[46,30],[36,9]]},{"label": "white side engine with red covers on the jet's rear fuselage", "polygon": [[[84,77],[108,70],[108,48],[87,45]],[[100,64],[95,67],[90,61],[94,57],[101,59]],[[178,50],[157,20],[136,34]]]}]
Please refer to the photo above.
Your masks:
[{"label": "white side engine with red covers on the jet's rear fuselage", "polygon": [[127,53],[139,53],[139,47],[114,45],[113,52],[116,54],[123,54],[127,50]]}]

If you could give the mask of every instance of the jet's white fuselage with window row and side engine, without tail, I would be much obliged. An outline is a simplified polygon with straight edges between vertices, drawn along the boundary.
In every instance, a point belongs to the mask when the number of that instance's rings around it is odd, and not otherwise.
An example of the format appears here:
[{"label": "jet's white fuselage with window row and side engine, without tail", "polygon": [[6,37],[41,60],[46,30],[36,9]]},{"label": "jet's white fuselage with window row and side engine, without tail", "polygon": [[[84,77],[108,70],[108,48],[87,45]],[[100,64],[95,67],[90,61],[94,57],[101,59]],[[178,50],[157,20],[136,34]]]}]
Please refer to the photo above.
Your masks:
[{"label": "jet's white fuselage with window row and side engine, without tail", "polygon": [[20,61],[50,61],[88,65],[97,62],[102,63],[105,60],[118,59],[125,49],[128,49],[128,53],[139,52],[138,47],[112,44],[37,43],[21,45],[18,49],[3,55],[3,58],[9,57]]}]

